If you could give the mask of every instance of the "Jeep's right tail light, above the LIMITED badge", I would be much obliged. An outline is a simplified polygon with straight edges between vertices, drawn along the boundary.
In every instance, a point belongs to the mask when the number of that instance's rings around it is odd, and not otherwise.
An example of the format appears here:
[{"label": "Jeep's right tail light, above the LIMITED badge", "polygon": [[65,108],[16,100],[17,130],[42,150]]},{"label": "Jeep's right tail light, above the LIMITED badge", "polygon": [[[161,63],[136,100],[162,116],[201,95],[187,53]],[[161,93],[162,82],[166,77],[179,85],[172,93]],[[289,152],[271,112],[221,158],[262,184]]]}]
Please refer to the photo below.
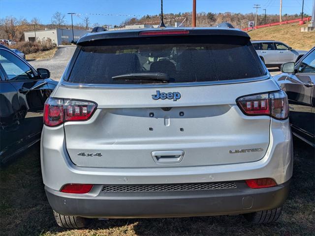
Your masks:
[{"label": "Jeep's right tail light, above the LIMITED badge", "polygon": [[282,90],[240,97],[236,103],[248,116],[266,115],[276,119],[286,119],[289,115],[287,96]]}]

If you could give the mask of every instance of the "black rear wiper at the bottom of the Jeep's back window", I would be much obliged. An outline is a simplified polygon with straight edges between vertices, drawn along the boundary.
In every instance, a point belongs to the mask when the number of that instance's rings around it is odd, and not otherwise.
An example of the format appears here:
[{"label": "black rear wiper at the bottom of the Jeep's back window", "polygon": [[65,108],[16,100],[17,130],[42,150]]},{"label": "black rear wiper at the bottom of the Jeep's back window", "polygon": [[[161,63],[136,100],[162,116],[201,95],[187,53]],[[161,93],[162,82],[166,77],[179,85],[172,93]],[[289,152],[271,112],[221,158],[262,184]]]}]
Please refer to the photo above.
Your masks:
[{"label": "black rear wiper at the bottom of the Jeep's back window", "polygon": [[124,75],[117,75],[112,77],[113,80],[152,80],[169,82],[169,77],[165,73],[131,73]]}]

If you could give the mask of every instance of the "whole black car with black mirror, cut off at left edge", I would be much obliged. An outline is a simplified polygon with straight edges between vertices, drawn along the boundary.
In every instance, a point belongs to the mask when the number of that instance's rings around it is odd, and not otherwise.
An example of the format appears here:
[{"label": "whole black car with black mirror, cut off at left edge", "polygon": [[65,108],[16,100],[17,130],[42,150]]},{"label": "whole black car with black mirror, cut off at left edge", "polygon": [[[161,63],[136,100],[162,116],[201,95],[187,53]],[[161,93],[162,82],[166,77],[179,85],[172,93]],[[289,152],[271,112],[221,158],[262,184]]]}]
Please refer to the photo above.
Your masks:
[{"label": "whole black car with black mirror, cut off at left edge", "polygon": [[0,163],[40,140],[44,103],[57,81],[0,45]]}]

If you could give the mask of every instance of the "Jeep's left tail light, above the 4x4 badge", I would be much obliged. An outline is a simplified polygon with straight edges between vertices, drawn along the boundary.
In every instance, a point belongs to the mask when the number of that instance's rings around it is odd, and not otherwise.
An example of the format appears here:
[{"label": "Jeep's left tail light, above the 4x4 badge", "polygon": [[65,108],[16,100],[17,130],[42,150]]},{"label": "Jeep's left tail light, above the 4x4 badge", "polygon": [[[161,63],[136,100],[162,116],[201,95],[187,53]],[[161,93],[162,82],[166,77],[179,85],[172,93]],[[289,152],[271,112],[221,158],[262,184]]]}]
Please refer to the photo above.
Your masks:
[{"label": "Jeep's left tail light, above the 4x4 badge", "polygon": [[56,126],[70,120],[87,120],[96,104],[89,101],[49,97],[44,106],[44,124]]}]

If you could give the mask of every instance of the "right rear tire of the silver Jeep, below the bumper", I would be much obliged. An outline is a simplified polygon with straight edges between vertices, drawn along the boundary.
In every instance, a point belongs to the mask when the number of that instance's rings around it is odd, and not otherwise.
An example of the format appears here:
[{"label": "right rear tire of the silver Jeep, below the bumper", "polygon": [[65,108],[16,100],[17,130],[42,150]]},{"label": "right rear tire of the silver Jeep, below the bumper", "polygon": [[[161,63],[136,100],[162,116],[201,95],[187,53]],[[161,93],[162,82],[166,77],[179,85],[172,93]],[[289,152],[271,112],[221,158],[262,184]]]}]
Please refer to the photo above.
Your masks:
[{"label": "right rear tire of the silver Jeep, below the bumper", "polygon": [[265,224],[276,222],[281,215],[282,207],[278,207],[271,210],[261,210],[257,212],[252,212],[244,214],[247,221],[252,224]]}]

